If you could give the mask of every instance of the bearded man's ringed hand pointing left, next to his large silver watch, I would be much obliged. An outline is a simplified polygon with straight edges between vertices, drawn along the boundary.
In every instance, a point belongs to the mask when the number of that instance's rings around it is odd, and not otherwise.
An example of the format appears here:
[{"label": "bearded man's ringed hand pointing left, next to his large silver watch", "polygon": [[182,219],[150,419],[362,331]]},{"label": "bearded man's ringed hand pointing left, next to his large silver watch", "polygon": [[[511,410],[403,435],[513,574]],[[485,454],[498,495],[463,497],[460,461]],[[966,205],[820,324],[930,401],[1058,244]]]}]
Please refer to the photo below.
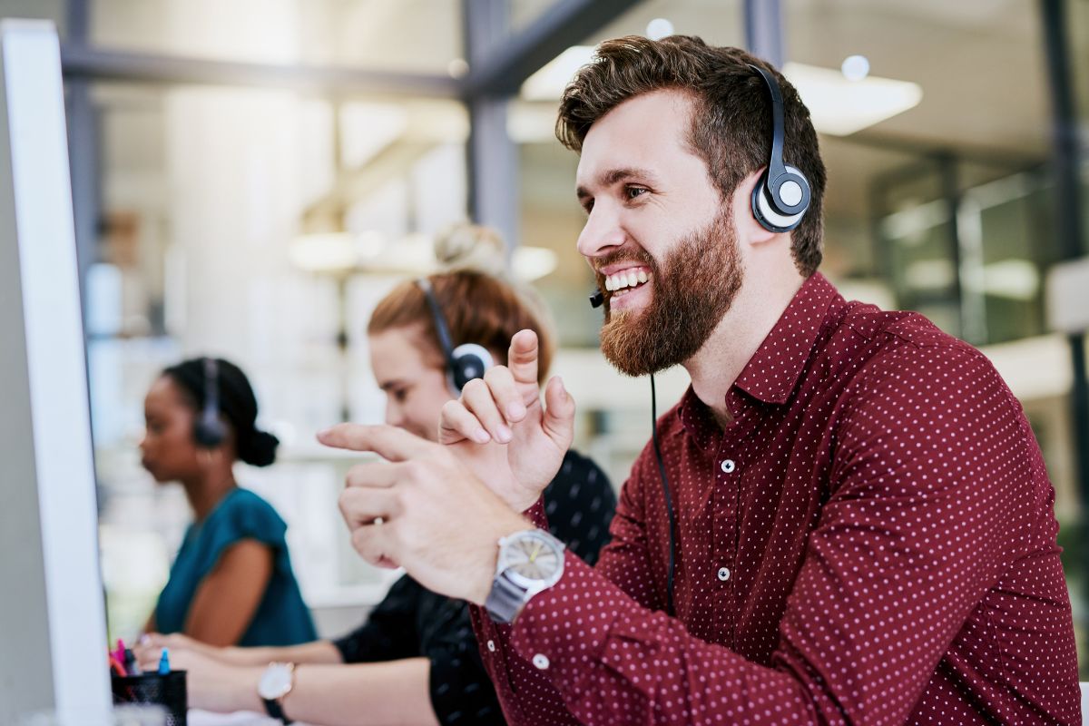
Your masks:
[{"label": "bearded man's ringed hand pointing left, next to his large silver watch", "polygon": [[327,446],[387,462],[348,470],[340,509],[367,562],[404,567],[428,590],[482,604],[500,538],[533,525],[485,487],[450,447],[389,426],[341,423]]}]

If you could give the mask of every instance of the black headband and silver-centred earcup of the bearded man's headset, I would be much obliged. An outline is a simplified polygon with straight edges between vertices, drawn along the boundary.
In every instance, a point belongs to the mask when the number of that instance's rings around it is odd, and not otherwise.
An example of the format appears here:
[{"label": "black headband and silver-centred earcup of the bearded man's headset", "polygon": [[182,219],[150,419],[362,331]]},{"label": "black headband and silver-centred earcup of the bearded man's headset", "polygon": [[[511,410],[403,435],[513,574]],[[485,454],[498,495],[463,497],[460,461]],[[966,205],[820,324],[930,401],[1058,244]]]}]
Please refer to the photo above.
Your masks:
[{"label": "black headband and silver-centred earcup of the bearded man's headset", "polygon": [[809,181],[797,168],[783,163],[783,94],[768,71],[749,63],[771,94],[771,157],[752,187],[752,216],[769,232],[790,232],[809,209]]}]

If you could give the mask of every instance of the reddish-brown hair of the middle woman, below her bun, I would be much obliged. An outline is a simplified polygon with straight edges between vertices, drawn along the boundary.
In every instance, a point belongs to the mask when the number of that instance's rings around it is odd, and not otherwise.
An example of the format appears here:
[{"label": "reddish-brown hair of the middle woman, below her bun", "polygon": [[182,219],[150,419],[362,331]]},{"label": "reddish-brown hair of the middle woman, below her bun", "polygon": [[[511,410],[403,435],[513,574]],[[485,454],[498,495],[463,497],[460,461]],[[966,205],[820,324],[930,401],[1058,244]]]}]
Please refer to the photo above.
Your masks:
[{"label": "reddish-brown hair of the middle woman, below her bun", "polygon": [[[428,276],[431,292],[442,310],[454,347],[476,343],[506,365],[511,339],[524,329],[537,333],[537,380],[543,383],[552,362],[552,335],[540,313],[511,285],[475,270],[454,270]],[[406,281],[381,299],[367,323],[367,334],[377,335],[394,329],[417,329],[420,350],[427,360],[443,367],[442,344],[435,327],[431,308],[419,285]]]}]

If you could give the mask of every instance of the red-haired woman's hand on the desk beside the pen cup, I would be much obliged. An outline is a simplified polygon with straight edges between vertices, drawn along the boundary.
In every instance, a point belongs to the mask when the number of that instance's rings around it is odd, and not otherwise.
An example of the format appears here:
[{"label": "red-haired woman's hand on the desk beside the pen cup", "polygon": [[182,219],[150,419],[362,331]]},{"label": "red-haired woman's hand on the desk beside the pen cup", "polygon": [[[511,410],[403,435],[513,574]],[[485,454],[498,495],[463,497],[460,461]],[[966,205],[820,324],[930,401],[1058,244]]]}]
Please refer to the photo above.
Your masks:
[{"label": "red-haired woman's hand on the desk beside the pen cup", "polygon": [[[137,662],[144,673],[156,673],[162,648],[144,647]],[[234,711],[265,712],[257,696],[260,666],[228,665],[210,655],[188,648],[170,651],[170,669],[185,670],[185,690],[189,707],[231,713]]]}]

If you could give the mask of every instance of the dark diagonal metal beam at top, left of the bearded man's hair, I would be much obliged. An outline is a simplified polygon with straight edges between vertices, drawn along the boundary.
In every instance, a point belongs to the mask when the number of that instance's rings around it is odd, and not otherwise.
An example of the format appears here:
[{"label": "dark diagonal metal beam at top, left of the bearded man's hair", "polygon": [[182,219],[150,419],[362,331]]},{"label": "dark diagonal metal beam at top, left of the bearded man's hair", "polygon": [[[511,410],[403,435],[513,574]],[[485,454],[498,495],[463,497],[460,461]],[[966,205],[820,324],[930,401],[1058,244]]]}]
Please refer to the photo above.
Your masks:
[{"label": "dark diagonal metal beam at top, left of the bearded man's hair", "polygon": [[643,0],[556,0],[517,36],[495,46],[464,79],[466,97],[513,96],[538,69]]}]

